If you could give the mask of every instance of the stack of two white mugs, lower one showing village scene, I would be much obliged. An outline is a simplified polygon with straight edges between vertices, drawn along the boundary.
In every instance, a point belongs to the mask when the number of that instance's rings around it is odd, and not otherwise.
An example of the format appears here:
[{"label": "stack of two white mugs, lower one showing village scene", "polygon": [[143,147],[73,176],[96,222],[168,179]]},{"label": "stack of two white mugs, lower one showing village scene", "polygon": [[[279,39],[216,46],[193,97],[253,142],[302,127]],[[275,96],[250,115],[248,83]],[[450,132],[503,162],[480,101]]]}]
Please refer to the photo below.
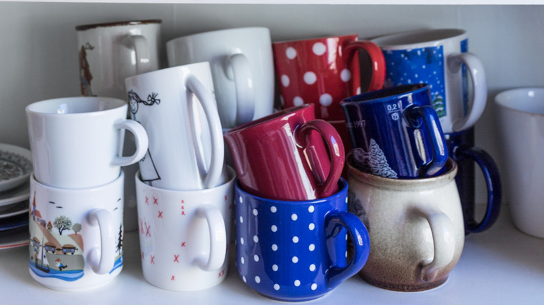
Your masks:
[{"label": "stack of two white mugs, lower one showing village scene", "polygon": [[[146,131],[127,120],[125,101],[65,97],[26,108],[34,172],[30,181],[29,272],[55,290],[85,290],[123,267],[121,166],[144,157]],[[125,130],[135,153],[123,157]]]}]

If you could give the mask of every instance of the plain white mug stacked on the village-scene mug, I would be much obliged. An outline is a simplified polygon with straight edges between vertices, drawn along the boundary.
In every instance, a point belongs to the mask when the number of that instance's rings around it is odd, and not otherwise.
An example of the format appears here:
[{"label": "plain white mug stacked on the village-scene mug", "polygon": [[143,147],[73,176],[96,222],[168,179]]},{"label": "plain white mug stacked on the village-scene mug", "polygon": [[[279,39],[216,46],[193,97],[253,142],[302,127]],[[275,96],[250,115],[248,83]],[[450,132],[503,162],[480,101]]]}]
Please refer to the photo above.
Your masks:
[{"label": "plain white mug stacked on the village-scene mug", "polygon": [[[25,109],[36,180],[50,187],[84,189],[116,180],[121,166],[144,157],[142,125],[127,120],[127,103],[112,97],[63,97]],[[133,155],[121,156],[124,130],[135,137]]]}]

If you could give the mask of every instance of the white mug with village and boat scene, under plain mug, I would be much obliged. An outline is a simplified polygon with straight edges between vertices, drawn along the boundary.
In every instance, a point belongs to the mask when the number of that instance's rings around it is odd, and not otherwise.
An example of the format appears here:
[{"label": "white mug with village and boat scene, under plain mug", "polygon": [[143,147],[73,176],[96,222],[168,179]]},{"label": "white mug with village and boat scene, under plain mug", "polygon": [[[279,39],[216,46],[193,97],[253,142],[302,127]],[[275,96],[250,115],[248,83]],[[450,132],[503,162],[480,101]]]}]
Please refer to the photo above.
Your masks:
[{"label": "white mug with village and boat scene, under plain mug", "polygon": [[49,187],[31,176],[29,272],[54,290],[103,286],[123,269],[124,175],[87,189]]}]

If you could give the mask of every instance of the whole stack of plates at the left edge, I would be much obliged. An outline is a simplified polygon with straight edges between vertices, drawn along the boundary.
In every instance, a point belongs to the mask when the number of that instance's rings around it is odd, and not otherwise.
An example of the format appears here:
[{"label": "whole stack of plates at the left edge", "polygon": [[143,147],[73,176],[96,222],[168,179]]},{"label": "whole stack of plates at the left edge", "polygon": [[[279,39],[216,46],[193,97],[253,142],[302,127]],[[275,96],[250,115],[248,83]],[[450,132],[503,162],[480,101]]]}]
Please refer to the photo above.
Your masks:
[{"label": "whole stack of plates at the left edge", "polygon": [[30,150],[0,143],[0,249],[29,243]]}]

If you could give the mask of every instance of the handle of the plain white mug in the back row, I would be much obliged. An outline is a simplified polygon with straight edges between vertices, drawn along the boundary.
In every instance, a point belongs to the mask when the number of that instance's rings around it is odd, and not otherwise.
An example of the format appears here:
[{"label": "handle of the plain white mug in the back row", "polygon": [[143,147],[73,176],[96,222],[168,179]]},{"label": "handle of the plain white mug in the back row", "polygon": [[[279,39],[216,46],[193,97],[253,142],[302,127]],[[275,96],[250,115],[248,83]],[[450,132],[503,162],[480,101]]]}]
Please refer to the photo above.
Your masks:
[{"label": "handle of the plain white mug in the back row", "polygon": [[236,87],[236,126],[248,123],[255,114],[255,88],[248,58],[240,53],[228,56],[225,74]]}]

